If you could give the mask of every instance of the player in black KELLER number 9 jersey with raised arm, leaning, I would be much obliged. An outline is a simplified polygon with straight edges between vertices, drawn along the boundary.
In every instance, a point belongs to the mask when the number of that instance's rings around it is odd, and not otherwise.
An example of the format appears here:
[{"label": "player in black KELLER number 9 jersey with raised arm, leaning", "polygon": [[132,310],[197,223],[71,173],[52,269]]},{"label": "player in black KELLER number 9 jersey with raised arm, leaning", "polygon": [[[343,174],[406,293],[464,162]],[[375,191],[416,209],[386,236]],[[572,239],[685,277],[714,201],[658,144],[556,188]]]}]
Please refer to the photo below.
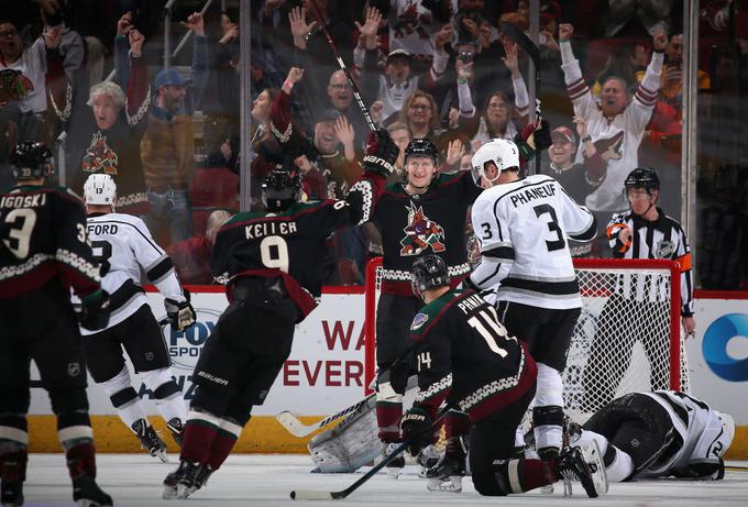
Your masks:
[{"label": "player in black KELLER number 9 jersey with raised arm, leaning", "polygon": [[231,304],[195,366],[182,463],[164,481],[164,498],[186,498],[228,458],[288,357],[295,326],[316,306],[324,239],[370,218],[397,154],[385,130],[373,133],[364,176],[339,201],[300,202],[298,174],[273,170],[262,186],[267,212],[235,214],[218,232],[211,267]]}]

